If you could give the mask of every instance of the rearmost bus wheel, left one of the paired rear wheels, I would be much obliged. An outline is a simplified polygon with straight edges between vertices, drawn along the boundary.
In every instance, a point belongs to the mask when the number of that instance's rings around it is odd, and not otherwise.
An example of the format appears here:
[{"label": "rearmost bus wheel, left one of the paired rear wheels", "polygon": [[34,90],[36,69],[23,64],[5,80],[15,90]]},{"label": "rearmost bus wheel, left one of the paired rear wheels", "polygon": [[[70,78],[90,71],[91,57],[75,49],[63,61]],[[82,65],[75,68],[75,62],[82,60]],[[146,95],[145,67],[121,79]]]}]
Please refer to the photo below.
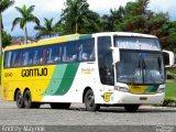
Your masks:
[{"label": "rearmost bus wheel, left one of the paired rear wheels", "polygon": [[18,108],[24,108],[24,99],[20,90],[18,90],[15,94],[15,101],[16,101]]}]

